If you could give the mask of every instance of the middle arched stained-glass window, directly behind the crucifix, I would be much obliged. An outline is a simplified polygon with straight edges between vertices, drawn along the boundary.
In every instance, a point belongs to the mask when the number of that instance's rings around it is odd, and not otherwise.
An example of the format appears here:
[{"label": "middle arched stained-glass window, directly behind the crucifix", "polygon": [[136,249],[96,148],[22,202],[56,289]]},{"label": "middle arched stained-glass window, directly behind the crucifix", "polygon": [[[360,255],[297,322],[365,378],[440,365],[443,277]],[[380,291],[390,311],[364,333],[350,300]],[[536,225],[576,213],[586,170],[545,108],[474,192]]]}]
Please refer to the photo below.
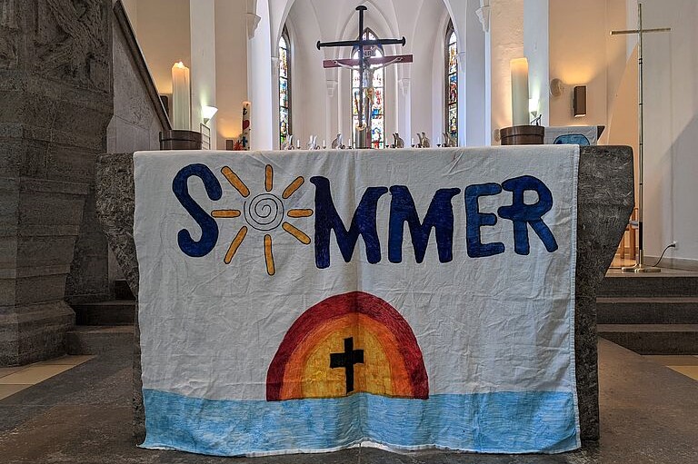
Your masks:
[{"label": "middle arched stained-glass window, directly behind the crucifix", "polygon": [[[375,40],[376,36],[374,32],[366,27],[364,29],[364,34],[362,35],[364,39]],[[372,56],[384,56],[383,47],[378,45],[372,50],[364,50],[364,53],[370,53]],[[356,59],[359,57],[359,52],[355,51],[352,58]],[[371,129],[371,147],[372,148],[385,148],[385,104],[384,104],[384,68],[380,66],[372,66],[371,69],[373,73],[373,88],[374,94],[371,95],[371,104],[369,112],[369,121]],[[369,73],[371,74],[371,73]],[[352,71],[352,129],[356,127],[359,123],[359,84],[360,76],[358,71]],[[365,98],[369,96],[366,94],[368,83],[364,82],[364,102]],[[353,131],[354,132],[354,131]],[[354,138],[355,134],[352,134]],[[354,146],[356,141],[354,140]]]}]

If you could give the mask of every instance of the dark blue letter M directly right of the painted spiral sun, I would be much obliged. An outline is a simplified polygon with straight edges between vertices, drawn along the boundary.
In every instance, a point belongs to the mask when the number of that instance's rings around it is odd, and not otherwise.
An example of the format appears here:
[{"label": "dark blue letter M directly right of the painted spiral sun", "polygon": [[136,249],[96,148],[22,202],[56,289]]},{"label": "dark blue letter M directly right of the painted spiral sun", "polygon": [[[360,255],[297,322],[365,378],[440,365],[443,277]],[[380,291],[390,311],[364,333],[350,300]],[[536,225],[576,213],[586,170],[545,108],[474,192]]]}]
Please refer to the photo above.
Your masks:
[{"label": "dark blue letter M directly right of the painted spiral sun", "polygon": [[352,225],[347,230],[339,217],[332,193],[330,181],[325,177],[310,178],[315,186],[315,265],[318,269],[330,267],[330,232],[334,231],[339,251],[344,262],[352,261],[354,248],[359,235],[364,239],[366,258],[374,264],[381,261],[381,242],[376,231],[375,214],[378,200],[388,193],[386,187],[369,187],[354,212]]}]

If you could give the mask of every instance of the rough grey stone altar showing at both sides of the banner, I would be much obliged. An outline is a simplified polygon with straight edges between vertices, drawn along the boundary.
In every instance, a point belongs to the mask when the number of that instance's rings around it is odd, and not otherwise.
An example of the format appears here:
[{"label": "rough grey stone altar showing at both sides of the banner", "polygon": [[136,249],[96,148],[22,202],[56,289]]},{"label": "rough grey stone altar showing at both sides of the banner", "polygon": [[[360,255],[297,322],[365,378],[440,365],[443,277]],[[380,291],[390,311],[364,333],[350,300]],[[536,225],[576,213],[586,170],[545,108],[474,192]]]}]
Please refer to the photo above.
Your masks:
[{"label": "rough grey stone altar showing at both sides of the banner", "polygon": [[[133,173],[133,153],[104,154],[97,160],[97,214],[131,290],[137,296]],[[633,198],[633,152],[630,147],[581,147],[574,340],[583,440],[599,438],[596,291],[613,261],[633,208]],[[137,318],[135,334],[135,438],[142,441],[145,415],[140,386]]]}]

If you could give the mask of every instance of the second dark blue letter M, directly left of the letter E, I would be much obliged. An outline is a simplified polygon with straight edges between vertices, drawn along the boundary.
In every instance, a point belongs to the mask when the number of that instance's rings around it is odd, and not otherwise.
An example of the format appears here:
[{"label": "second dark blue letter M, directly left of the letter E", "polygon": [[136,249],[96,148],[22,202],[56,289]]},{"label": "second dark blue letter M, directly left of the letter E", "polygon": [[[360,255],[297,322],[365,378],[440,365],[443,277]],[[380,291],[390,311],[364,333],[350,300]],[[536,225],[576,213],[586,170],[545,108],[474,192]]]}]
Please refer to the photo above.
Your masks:
[{"label": "second dark blue letter M, directly left of the letter E", "polygon": [[439,262],[450,262],[454,259],[454,207],[451,199],[461,193],[460,189],[440,189],[434,194],[429,210],[424,216],[424,222],[419,222],[412,194],[404,185],[394,185],[390,188],[393,200],[390,202],[390,227],[388,231],[388,260],[403,261],[404,222],[410,227],[414,258],[417,262],[424,261],[426,246],[432,228],[436,235],[436,249],[439,252]]}]

